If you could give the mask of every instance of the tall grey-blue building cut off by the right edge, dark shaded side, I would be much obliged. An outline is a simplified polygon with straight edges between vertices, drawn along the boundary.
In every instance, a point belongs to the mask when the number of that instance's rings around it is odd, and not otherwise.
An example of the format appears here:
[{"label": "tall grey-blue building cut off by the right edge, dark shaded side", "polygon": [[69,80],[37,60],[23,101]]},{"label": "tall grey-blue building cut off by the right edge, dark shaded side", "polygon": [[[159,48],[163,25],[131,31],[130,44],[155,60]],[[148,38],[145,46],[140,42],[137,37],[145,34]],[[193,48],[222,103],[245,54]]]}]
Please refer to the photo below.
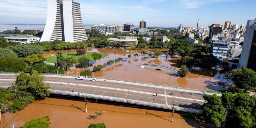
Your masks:
[{"label": "tall grey-blue building cut off by the right edge, dark shaded side", "polygon": [[240,67],[256,71],[256,19],[247,21]]}]

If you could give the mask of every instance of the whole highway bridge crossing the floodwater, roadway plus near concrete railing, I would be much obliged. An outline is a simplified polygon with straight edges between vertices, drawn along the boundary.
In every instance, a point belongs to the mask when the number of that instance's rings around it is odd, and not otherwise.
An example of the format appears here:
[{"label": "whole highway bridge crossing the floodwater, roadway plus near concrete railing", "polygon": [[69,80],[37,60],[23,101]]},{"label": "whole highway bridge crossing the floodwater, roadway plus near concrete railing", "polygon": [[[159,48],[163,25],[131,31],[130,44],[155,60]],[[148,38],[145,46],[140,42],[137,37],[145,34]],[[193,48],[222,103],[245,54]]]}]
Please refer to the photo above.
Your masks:
[{"label": "whole highway bridge crossing the floodwater, roadway plus near concrete railing", "polygon": [[[43,74],[51,93],[126,102],[149,107],[173,109],[189,113],[202,113],[200,106],[205,102],[201,90],[176,88],[165,85],[143,84],[131,81],[117,81],[90,78],[76,80],[75,76]],[[16,80],[15,74],[0,74],[0,86],[10,87]]]}]

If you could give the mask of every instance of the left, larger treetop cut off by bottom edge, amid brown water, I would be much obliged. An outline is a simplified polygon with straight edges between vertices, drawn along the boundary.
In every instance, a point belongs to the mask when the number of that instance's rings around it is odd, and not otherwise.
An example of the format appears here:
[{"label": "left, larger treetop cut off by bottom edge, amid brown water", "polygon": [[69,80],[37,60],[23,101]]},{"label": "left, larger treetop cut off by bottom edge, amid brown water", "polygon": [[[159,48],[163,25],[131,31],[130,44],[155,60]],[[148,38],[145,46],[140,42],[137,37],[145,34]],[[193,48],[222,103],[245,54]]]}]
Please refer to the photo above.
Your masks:
[{"label": "left, larger treetop cut off by bottom edge, amid brown water", "polygon": [[43,118],[33,119],[32,121],[26,122],[23,128],[50,128],[50,119],[48,116]]}]

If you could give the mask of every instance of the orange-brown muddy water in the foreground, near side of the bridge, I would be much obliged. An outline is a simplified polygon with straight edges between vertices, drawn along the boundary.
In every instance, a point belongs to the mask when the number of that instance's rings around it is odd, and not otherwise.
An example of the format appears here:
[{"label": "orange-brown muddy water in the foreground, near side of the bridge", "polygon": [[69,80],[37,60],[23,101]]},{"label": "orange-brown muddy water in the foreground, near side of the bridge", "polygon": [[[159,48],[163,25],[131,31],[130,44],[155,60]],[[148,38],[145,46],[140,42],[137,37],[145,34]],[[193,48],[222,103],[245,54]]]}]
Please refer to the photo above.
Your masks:
[{"label": "orange-brown muddy water in the foreground, near side of the bridge", "polygon": [[[106,114],[103,111],[106,111]],[[22,127],[27,121],[44,116],[49,116],[51,128],[86,128],[90,123],[105,123],[108,128],[192,127],[187,124],[191,124],[191,120],[186,119],[185,121],[177,113],[174,113],[174,122],[172,123],[171,112],[96,103],[88,103],[87,112],[85,113],[85,102],[46,98],[42,101],[35,101],[16,113],[4,113],[2,127],[7,127],[15,122]],[[93,115],[95,112],[102,112],[102,117],[97,120],[88,119],[89,115]]]}]

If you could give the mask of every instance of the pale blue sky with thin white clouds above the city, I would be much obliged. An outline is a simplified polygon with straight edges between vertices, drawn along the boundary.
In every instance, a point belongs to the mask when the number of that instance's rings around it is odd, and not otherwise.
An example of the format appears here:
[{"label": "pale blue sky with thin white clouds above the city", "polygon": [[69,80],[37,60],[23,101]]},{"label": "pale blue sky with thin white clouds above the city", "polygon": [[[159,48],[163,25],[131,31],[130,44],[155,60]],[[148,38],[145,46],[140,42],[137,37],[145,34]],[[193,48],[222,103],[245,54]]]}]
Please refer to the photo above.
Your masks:
[{"label": "pale blue sky with thin white clouds above the city", "polygon": [[[245,24],[256,17],[256,0],[74,0],[83,24],[207,27],[229,20]],[[47,0],[0,0],[0,24],[45,24]]]}]

